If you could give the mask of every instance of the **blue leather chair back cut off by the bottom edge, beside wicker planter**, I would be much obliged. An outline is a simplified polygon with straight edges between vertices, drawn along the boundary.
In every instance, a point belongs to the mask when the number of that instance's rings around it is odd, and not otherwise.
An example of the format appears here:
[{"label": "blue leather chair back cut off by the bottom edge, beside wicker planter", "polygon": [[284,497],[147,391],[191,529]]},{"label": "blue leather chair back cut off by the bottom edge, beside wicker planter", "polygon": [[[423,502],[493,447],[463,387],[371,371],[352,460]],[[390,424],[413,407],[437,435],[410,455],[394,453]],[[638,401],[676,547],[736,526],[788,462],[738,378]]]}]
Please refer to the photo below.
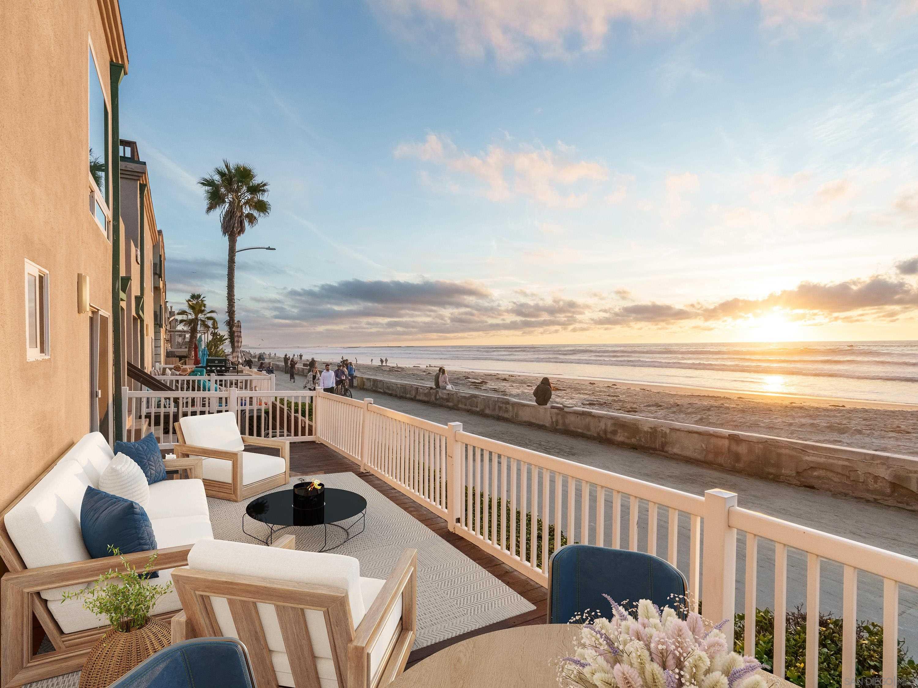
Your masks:
[{"label": "blue leather chair back cut off by the bottom edge, beside wicker planter", "polygon": [[109,688],[255,688],[255,679],[239,640],[194,638],[161,649]]}]

